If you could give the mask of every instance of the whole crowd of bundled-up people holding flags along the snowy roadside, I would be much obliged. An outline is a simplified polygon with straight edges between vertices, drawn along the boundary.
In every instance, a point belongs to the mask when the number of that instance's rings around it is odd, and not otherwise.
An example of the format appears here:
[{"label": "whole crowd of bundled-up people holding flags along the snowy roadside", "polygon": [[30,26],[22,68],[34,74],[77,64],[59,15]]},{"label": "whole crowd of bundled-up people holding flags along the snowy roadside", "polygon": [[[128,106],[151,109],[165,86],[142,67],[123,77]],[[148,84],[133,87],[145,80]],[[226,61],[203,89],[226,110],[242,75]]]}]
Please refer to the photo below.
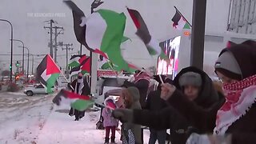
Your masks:
[{"label": "whole crowd of bundled-up people holding flags along the snowy roadside", "polygon": [[[125,144],[145,143],[143,126],[150,128],[149,144],[164,144],[166,140],[172,144],[255,143],[256,42],[226,47],[214,68],[219,81],[193,66],[183,68],[174,80],[154,75],[158,82],[154,91],[149,90],[152,76],[142,70],[135,72],[133,82],[118,82],[122,106],[111,109],[109,105],[115,100],[106,98],[102,110],[105,143],[115,142],[118,121],[122,122],[121,140]],[[90,94],[82,74],[71,86],[75,93]],[[84,111],[71,109],[70,115],[78,121]]]}]

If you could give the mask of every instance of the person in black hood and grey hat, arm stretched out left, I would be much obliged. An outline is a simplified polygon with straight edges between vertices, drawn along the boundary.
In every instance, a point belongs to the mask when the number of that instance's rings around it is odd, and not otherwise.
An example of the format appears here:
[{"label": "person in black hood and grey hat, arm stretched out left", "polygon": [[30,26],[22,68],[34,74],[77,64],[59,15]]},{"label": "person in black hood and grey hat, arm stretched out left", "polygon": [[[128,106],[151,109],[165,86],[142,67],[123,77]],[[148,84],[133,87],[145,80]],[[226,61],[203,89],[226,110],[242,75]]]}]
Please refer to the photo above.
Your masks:
[{"label": "person in black hood and grey hat, arm stretched out left", "polygon": [[[195,67],[186,67],[174,78],[174,86],[182,90],[186,98],[193,101],[197,106],[205,110],[219,108],[218,103],[224,102],[223,97],[219,97],[209,76],[202,70]],[[180,114],[172,106],[158,112],[148,110],[114,110],[114,116],[122,120],[128,119],[130,122],[150,126],[157,130],[170,129],[171,142],[185,143],[191,132],[203,133],[190,123],[190,118]],[[128,118],[131,117],[131,118]],[[212,130],[214,127],[212,128]],[[211,132],[211,131],[207,131]]]}]

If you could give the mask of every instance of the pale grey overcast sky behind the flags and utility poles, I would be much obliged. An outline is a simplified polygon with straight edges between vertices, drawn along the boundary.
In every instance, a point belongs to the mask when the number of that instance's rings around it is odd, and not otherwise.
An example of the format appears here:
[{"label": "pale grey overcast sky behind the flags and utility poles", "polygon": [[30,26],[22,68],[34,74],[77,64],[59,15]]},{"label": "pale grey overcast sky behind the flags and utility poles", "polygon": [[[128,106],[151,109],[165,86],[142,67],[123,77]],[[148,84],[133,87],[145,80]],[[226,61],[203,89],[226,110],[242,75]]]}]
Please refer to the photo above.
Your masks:
[{"label": "pale grey overcast sky behind the flags and utility poles", "polygon": [[[161,4],[155,5],[156,0],[105,0],[101,8],[115,10],[118,12],[125,12],[126,21],[126,36],[130,38],[137,38],[135,33],[134,24],[127,16],[126,6],[140,10],[140,13],[147,22],[151,34],[154,34],[155,38],[161,39],[165,37],[168,30],[173,30],[171,27],[170,19],[174,14],[173,6],[182,6],[184,1],[178,0],[170,2],[170,0],[161,0]],[[90,14],[90,4],[93,0],[74,0],[74,2],[84,11],[86,15]],[[176,3],[175,3],[176,2]],[[188,6],[182,6],[183,10],[186,7],[191,7],[192,2],[188,3]],[[154,9],[153,9],[154,8]],[[165,10],[165,13],[162,12]],[[190,20],[190,14],[187,14],[187,18]],[[44,26],[50,26],[46,21],[51,18],[58,24],[55,26],[63,26],[64,34],[58,36],[58,42],[73,43],[74,50],[70,50],[70,54],[78,53],[80,44],[77,42],[74,36],[73,30],[73,18],[70,9],[62,2],[62,0],[1,0],[0,5],[0,18],[8,19],[14,26],[14,38],[20,39],[25,43],[25,46],[30,48],[31,54],[49,54],[50,48],[47,46],[50,40],[50,34],[47,34],[50,30],[44,29]],[[158,23],[158,25],[156,25]],[[160,29],[161,28],[161,29]],[[167,31],[167,32],[166,32]],[[10,54],[10,26],[6,22],[0,22],[0,54]],[[134,45],[134,42],[136,45]],[[149,55],[134,55],[130,54],[134,49],[138,50],[138,47],[143,46],[142,43],[130,42],[126,44],[127,50],[126,57],[129,58],[144,58],[149,59]],[[21,42],[14,42],[14,54],[22,54]],[[60,66],[66,65],[66,51],[63,51],[61,47],[58,47],[58,63]],[[83,47],[83,53],[87,52]],[[142,50],[144,53],[145,50]],[[127,56],[128,55],[128,56]],[[0,61],[2,64],[8,62],[10,56],[0,55]],[[22,60],[21,56],[14,56],[14,62],[16,60]],[[42,57],[35,57],[35,67],[42,60]],[[152,62],[152,61],[150,61]],[[0,66],[2,66],[0,63]]]}]

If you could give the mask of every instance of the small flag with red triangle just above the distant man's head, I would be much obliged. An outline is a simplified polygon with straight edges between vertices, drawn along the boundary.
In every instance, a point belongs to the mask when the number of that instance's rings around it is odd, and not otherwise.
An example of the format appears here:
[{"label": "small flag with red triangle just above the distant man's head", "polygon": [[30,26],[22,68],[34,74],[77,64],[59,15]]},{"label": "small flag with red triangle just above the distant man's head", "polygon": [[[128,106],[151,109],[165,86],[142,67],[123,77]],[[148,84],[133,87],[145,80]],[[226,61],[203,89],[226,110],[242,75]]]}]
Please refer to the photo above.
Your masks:
[{"label": "small flag with red triangle just above the distant man's head", "polygon": [[[82,74],[86,74],[86,73],[89,73],[90,74],[90,61],[91,61],[91,58],[90,57],[87,57],[85,58],[86,56],[80,58],[82,59],[80,62],[79,62],[79,65],[78,66],[75,66],[73,67],[71,70],[70,70],[70,76],[72,77],[73,75],[75,74],[78,74],[79,72],[82,72]],[[85,59],[84,59],[85,58]]]}]

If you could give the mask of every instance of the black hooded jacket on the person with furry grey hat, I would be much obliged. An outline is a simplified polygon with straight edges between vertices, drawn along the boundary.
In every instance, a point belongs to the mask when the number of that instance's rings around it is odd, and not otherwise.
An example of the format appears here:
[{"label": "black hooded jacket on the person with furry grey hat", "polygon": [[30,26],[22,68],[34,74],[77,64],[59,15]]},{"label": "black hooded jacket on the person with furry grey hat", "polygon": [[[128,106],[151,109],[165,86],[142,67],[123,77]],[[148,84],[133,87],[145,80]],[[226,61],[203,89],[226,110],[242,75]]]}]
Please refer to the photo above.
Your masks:
[{"label": "black hooded jacket on the person with furry grey hat", "polygon": [[[187,67],[183,69],[177,77],[174,78],[174,85],[177,89],[182,90],[182,87],[178,85],[178,78],[186,72],[195,72],[202,76],[202,90],[194,102],[203,109],[212,109],[215,107],[218,109],[218,104],[223,103],[225,99],[222,95],[218,95],[217,91],[214,90],[211,79],[202,70],[198,70],[194,67]],[[197,130],[196,127],[190,124],[188,119],[186,119],[182,114],[179,114],[178,110],[175,110],[170,105],[157,112],[134,110],[134,123],[150,126],[156,130],[170,129],[170,140],[173,144],[186,143],[186,139],[189,137],[191,132],[206,132]]]}]

